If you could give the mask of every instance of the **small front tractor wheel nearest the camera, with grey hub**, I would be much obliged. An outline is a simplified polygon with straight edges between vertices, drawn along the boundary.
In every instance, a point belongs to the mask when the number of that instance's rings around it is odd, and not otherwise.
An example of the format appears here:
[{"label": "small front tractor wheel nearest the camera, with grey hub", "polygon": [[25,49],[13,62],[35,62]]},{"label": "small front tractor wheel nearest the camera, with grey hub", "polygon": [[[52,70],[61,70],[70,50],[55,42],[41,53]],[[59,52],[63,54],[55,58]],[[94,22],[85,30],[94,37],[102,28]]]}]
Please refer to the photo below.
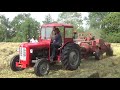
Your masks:
[{"label": "small front tractor wheel nearest the camera, with grey hub", "polygon": [[39,59],[34,66],[36,76],[44,76],[49,73],[49,62],[46,59]]}]

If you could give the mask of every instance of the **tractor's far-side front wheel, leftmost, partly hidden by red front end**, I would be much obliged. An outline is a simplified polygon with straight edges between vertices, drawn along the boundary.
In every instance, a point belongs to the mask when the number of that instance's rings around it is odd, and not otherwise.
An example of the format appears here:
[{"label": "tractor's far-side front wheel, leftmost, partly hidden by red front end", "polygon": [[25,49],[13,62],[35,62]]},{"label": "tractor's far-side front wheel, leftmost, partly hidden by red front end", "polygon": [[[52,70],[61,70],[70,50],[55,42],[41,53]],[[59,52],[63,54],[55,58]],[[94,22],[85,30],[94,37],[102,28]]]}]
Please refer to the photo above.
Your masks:
[{"label": "tractor's far-side front wheel, leftmost, partly hidden by red front end", "polygon": [[19,62],[19,55],[15,55],[10,61],[10,68],[13,71],[21,71],[24,68],[16,67],[16,62]]}]

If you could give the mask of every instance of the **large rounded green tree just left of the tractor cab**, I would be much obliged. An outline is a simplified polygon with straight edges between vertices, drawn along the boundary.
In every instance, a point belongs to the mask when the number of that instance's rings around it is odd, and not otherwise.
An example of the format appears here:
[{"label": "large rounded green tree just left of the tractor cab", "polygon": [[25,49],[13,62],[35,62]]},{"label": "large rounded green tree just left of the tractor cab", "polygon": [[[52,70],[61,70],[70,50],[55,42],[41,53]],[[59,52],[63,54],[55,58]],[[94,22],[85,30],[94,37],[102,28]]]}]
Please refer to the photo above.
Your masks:
[{"label": "large rounded green tree just left of the tractor cab", "polygon": [[34,20],[30,14],[23,13],[17,15],[11,22],[11,25],[14,36],[13,41],[26,41],[27,35],[29,35],[30,38],[32,38],[32,36],[38,36],[40,23]]}]

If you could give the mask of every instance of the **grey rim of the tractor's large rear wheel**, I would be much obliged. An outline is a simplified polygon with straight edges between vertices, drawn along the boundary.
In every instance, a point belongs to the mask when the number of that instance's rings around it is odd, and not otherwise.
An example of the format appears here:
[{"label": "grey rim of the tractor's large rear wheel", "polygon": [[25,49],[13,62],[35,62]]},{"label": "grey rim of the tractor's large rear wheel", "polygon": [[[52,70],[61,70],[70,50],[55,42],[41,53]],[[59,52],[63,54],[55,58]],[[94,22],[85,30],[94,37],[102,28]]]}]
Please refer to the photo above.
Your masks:
[{"label": "grey rim of the tractor's large rear wheel", "polygon": [[72,52],[70,52],[69,54],[69,60],[70,60],[70,65],[72,66],[76,66],[78,61],[79,61],[79,56],[78,56],[78,51],[77,50],[73,50]]}]

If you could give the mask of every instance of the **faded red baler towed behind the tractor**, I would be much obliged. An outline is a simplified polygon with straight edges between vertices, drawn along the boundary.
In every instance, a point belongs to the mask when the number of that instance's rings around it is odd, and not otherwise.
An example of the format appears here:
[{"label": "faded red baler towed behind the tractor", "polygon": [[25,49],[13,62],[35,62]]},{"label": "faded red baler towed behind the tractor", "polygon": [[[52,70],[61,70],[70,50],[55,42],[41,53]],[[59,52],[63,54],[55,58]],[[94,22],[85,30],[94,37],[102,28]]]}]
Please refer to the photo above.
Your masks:
[{"label": "faded red baler towed behind the tractor", "polygon": [[[81,34],[83,34],[83,36],[80,36]],[[91,33],[78,33],[78,38],[75,39],[76,42],[80,43],[79,46],[82,47],[82,58],[87,58],[90,53],[96,52],[98,49],[101,53],[105,53],[107,49],[111,47],[111,45],[109,43],[104,42],[103,39],[91,40],[91,38]]]}]

